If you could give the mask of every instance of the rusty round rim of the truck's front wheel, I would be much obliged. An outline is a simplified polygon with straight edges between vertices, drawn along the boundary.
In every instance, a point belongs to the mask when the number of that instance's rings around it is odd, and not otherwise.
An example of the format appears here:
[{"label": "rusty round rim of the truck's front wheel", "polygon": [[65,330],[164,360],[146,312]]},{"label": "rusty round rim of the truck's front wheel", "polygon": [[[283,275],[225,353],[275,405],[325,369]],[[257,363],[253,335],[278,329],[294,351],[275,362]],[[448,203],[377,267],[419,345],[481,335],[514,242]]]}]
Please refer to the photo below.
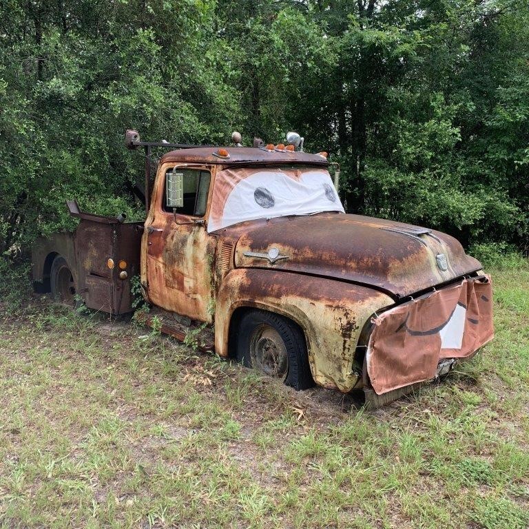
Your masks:
[{"label": "rusty round rim of the truck's front wheel", "polygon": [[257,327],[250,340],[251,365],[269,377],[284,380],[289,372],[287,347],[270,325]]}]

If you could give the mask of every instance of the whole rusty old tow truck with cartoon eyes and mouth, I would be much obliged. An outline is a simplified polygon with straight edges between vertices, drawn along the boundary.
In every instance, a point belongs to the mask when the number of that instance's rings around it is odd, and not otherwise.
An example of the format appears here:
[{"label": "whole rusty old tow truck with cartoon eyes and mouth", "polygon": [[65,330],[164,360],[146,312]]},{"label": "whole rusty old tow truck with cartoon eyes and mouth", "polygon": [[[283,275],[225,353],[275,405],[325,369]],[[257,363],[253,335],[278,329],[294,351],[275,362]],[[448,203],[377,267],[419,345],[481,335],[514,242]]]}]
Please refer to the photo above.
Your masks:
[{"label": "whole rusty old tow truck with cartoon eyes and mouth", "polygon": [[[145,222],[68,203],[79,225],[37,240],[35,284],[118,315],[139,274],[163,331],[207,327],[221,357],[297,389],[363,390],[371,406],[475,355],[493,336],[481,264],[439,231],[346,214],[326,154],[289,137],[192,147],[127,131],[147,154]],[[173,150],[152,183],[160,146]]]}]

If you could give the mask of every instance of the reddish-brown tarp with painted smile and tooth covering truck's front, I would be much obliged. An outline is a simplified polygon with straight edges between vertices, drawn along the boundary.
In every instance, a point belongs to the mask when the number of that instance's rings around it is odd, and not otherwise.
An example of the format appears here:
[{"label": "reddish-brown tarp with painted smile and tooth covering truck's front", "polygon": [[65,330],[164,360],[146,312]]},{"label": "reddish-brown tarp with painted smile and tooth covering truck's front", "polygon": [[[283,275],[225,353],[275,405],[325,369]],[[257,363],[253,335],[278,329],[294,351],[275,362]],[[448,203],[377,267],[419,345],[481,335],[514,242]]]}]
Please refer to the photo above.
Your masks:
[{"label": "reddish-brown tarp with painted smile and tooth covering truck's front", "polygon": [[490,276],[463,280],[372,320],[366,354],[375,393],[435,377],[442,358],[464,358],[492,340]]}]

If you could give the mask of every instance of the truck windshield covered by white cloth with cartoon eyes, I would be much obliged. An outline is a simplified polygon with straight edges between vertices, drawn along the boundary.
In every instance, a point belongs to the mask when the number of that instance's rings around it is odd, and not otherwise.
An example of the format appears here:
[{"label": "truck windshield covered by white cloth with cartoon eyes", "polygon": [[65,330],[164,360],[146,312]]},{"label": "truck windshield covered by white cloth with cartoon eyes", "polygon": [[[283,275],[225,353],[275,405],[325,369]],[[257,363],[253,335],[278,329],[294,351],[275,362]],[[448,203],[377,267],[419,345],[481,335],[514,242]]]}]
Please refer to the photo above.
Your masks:
[{"label": "truck windshield covered by white cloth with cartoon eyes", "polygon": [[257,218],[341,211],[326,169],[273,167],[217,173],[207,231]]}]

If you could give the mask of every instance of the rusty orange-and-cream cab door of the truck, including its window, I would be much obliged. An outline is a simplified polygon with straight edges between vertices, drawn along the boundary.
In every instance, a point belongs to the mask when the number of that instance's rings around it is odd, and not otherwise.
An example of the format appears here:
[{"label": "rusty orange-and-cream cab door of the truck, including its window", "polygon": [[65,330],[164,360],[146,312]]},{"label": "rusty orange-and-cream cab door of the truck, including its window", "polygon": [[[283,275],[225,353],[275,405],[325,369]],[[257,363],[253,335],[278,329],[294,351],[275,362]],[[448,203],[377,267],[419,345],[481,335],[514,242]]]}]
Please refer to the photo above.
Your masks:
[{"label": "rusty orange-and-cream cab door of the truck, including its window", "polygon": [[211,172],[201,167],[175,169],[183,174],[183,205],[169,207],[166,187],[172,169],[162,166],[156,178],[143,235],[143,280],[153,304],[211,322],[215,241],[204,223]]}]

